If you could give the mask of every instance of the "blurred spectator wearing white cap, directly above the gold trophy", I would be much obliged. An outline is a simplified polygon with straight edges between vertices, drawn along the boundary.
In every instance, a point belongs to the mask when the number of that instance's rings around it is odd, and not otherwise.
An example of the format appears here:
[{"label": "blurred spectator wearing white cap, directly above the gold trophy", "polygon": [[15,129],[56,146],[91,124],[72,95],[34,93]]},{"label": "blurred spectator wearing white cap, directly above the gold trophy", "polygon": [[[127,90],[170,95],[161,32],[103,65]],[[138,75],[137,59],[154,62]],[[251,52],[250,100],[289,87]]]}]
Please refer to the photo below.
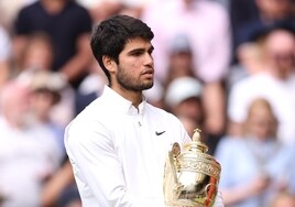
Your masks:
[{"label": "blurred spectator wearing white cap, directly above the gold trophy", "polygon": [[187,133],[192,134],[193,128],[203,130],[204,142],[209,148],[209,153],[214,153],[219,137],[215,137],[204,127],[206,115],[204,112],[201,95],[204,92],[203,84],[194,77],[178,77],[170,83],[165,91],[165,109],[174,113],[183,121]]}]

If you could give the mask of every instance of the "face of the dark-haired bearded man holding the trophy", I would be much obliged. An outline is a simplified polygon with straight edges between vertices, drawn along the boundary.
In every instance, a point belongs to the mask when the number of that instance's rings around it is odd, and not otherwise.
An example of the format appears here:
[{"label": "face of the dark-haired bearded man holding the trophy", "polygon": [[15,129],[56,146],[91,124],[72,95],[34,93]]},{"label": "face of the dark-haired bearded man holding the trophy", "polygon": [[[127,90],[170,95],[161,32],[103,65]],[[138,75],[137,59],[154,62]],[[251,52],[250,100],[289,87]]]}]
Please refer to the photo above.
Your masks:
[{"label": "face of the dark-haired bearded man holding the trophy", "polygon": [[125,44],[119,55],[119,64],[114,72],[114,79],[127,90],[141,91],[153,86],[154,61],[153,46],[150,41],[134,39]]}]

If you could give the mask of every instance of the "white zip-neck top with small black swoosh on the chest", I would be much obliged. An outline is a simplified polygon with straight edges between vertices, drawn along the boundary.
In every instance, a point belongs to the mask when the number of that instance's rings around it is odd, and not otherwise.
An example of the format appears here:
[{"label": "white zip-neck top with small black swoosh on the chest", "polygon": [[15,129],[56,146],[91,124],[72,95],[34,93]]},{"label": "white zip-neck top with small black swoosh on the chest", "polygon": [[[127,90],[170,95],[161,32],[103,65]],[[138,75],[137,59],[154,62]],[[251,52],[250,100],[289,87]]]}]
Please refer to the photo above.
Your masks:
[{"label": "white zip-neck top with small black swoosh on the chest", "polygon": [[143,101],[139,110],[108,86],[65,132],[87,207],[162,207],[164,163],[174,142],[190,141],[176,117]]}]

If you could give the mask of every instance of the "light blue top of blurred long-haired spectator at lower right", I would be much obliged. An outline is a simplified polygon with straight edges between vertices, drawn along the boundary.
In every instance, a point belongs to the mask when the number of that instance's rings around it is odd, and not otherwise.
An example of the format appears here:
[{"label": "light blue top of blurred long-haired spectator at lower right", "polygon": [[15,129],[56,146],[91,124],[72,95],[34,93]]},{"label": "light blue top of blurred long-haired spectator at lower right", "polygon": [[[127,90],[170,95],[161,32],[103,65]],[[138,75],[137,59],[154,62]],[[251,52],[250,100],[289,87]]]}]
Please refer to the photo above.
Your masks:
[{"label": "light blue top of blurred long-haired spectator at lower right", "polygon": [[254,177],[266,174],[272,183],[260,196],[250,197],[232,207],[261,207],[277,192],[278,183],[286,182],[295,193],[294,146],[283,145],[275,139],[258,141],[252,138],[223,138],[215,154],[221,164],[220,190],[247,185]]}]

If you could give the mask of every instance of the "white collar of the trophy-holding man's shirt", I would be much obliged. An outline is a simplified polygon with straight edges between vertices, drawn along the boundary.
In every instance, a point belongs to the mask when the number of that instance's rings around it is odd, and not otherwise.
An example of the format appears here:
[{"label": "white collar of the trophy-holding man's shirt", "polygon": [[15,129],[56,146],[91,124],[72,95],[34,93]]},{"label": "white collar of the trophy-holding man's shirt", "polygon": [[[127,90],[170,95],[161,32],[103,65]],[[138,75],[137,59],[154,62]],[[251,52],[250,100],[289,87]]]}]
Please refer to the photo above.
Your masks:
[{"label": "white collar of the trophy-holding man's shirt", "polygon": [[101,96],[107,98],[110,103],[116,103],[114,110],[122,111],[128,115],[142,115],[146,105],[146,98],[143,96],[143,101],[139,105],[139,109],[136,109],[130,100],[123,98],[107,85],[105,85],[103,92]]}]

